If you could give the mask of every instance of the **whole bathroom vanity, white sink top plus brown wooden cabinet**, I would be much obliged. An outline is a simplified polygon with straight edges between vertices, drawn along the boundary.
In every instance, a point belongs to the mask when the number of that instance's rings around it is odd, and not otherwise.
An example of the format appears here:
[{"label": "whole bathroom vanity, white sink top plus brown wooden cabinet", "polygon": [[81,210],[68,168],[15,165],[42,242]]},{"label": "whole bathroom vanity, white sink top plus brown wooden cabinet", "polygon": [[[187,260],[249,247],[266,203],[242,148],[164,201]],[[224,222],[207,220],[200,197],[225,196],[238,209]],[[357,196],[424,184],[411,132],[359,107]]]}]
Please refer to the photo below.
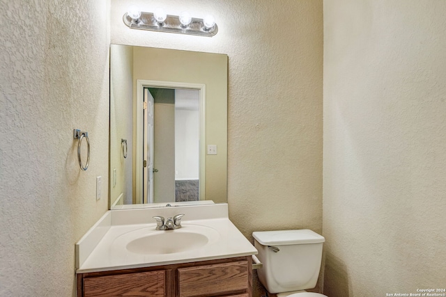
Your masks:
[{"label": "whole bathroom vanity, white sink top plus brown wooden cabinet", "polygon": [[[184,214],[155,230],[153,216]],[[227,204],[107,211],[76,244],[77,296],[252,296],[257,250]]]}]

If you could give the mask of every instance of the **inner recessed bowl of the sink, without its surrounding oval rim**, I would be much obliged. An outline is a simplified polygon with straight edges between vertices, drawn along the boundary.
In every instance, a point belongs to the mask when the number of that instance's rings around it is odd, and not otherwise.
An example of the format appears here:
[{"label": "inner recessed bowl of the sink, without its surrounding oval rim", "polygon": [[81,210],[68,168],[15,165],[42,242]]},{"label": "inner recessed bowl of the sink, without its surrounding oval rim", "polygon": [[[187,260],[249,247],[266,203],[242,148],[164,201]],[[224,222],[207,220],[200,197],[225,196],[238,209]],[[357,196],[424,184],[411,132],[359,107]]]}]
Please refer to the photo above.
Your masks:
[{"label": "inner recessed bowl of the sink, without its surrounding oval rim", "polygon": [[207,236],[200,233],[176,231],[169,230],[134,239],[126,248],[137,254],[172,254],[196,250],[209,241]]}]

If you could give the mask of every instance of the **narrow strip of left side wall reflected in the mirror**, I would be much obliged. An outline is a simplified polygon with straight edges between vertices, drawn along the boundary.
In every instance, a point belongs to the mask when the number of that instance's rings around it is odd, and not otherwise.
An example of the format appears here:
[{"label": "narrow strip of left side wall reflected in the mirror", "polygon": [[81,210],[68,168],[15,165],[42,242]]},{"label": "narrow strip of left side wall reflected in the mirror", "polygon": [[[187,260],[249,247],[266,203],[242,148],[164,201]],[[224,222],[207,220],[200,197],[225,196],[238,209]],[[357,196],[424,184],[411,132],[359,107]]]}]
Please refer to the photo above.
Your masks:
[{"label": "narrow strip of left side wall reflected in the mirror", "polygon": [[[121,194],[123,204],[133,202],[133,50],[112,47],[110,50],[110,202]],[[127,141],[127,158],[123,155],[122,139]],[[113,186],[113,170],[116,185]]]}]

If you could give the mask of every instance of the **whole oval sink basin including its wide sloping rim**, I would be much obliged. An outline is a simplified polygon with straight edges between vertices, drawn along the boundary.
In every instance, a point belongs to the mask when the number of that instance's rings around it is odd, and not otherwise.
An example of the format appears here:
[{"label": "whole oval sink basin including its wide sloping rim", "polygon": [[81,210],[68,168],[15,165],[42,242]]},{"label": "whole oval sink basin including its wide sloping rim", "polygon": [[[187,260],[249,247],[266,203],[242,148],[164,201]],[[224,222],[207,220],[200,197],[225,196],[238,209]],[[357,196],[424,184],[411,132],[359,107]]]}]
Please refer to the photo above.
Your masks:
[{"label": "whole oval sink basin including its wide sloping rim", "polygon": [[125,233],[114,241],[115,247],[142,255],[166,255],[198,250],[214,243],[220,233],[202,225],[183,225],[175,230],[155,230],[144,227]]}]

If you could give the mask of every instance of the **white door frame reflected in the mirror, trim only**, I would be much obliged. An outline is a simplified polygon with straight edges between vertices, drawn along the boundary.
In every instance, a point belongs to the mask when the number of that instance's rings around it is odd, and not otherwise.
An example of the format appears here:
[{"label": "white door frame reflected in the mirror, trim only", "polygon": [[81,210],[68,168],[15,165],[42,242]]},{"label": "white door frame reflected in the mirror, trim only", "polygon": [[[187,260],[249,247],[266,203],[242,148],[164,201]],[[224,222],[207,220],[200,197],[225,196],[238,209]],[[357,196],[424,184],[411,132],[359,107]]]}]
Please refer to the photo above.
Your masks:
[{"label": "white door frame reflected in the mirror, trim only", "polygon": [[[199,91],[199,200],[205,200],[206,193],[206,84],[175,81],[153,81],[137,79],[136,104],[136,158],[135,158],[135,195],[143,196],[143,139],[144,139],[144,88],[185,89]],[[144,200],[144,198],[142,198]],[[147,200],[144,200],[147,201]]]}]

